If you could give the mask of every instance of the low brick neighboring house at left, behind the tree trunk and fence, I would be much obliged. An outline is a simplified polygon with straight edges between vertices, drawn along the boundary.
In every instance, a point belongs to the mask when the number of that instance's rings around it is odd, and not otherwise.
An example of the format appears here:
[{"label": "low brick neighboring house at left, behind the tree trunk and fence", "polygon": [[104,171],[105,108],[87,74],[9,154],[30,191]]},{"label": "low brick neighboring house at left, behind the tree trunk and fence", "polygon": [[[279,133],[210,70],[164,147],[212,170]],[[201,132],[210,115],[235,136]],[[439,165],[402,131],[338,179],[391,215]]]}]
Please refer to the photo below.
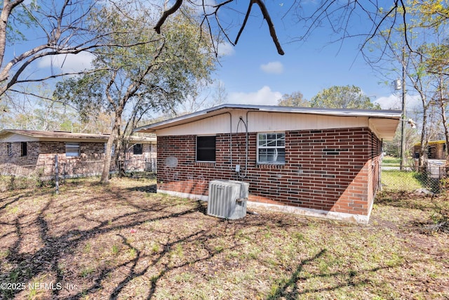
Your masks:
[{"label": "low brick neighboring house at left, behind the tree trunk and fence", "polygon": [[[108,138],[106,134],[4,129],[0,131],[0,174],[52,176],[55,155],[62,176],[100,174]],[[136,171],[151,168],[154,159],[156,138],[139,136],[130,138],[126,157],[121,157],[126,169]]]}]

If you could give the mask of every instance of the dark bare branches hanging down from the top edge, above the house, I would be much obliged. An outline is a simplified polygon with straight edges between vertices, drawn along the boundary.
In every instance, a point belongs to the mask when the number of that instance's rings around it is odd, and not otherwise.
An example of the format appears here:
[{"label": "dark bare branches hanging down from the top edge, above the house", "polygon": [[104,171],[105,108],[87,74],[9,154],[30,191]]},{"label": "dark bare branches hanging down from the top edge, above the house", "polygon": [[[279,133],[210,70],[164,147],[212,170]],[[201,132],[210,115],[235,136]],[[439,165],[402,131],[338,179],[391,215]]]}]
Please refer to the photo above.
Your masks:
[{"label": "dark bare branches hanging down from the top edge, above the house", "polygon": [[[156,23],[154,29],[156,32],[161,32],[161,27],[166,22],[170,15],[173,15],[178,10],[181,10],[184,6],[197,6],[201,11],[202,24],[208,25],[210,31],[217,29],[229,43],[236,45],[241,37],[241,33],[246,27],[248,18],[253,13],[254,4],[260,9],[264,20],[266,20],[269,34],[272,37],[272,41],[276,46],[279,54],[283,55],[284,51],[279,42],[278,35],[275,30],[274,22],[270,16],[270,11],[265,5],[265,1],[262,0],[247,0],[248,8],[246,11],[239,11],[237,8],[236,0],[224,0],[220,3],[210,3],[208,1],[194,1],[194,0],[176,0],[173,6],[164,11],[159,21]],[[297,32],[296,37],[288,41],[302,41],[307,39],[314,30],[323,25],[328,25],[333,32],[337,34],[335,41],[343,41],[349,37],[364,37],[365,42],[361,45],[361,48],[366,46],[368,41],[375,37],[382,28],[393,28],[398,23],[404,23],[406,18],[406,1],[395,0],[391,3],[389,8],[383,8],[382,4],[378,1],[335,1],[335,0],[322,0],[316,3],[316,9],[309,14],[306,14],[308,10],[303,9],[303,1],[293,1],[288,7],[285,18],[287,15],[293,16],[296,22],[304,24],[304,31]],[[235,14],[244,15],[244,19],[239,25],[239,32],[235,39],[232,39],[229,34],[229,29],[222,25],[218,13],[220,10],[228,8],[234,11]],[[444,9],[441,8],[442,13]],[[371,26],[366,32],[358,32],[357,28],[351,27],[349,24],[353,20],[368,20]],[[406,23],[406,22],[405,22]],[[403,34],[405,36],[406,44],[408,44],[408,32],[404,27]]]}]

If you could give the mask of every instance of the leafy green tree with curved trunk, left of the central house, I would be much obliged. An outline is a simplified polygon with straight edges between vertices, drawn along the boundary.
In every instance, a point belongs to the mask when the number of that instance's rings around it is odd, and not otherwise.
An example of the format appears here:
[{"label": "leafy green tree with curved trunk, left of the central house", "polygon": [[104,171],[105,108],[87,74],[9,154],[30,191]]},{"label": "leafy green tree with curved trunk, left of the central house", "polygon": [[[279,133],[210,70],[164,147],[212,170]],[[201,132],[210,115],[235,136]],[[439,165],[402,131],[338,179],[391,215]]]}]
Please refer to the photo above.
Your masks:
[{"label": "leafy green tree with curved trunk, left of the central house", "polygon": [[[105,149],[101,182],[109,181],[112,145],[129,134],[149,110],[166,112],[195,91],[196,83],[208,81],[215,68],[209,39],[183,14],[167,22],[166,34],[156,34],[149,23],[149,10],[134,12],[123,1],[121,11],[105,7],[96,12],[93,23],[99,32],[115,32],[108,44],[95,53],[93,64],[105,69],[60,81],[54,96],[70,101],[86,115],[105,107],[114,113],[111,134]],[[130,115],[128,115],[128,112]],[[125,124],[123,130],[123,122]],[[119,153],[123,143],[116,143]]]}]

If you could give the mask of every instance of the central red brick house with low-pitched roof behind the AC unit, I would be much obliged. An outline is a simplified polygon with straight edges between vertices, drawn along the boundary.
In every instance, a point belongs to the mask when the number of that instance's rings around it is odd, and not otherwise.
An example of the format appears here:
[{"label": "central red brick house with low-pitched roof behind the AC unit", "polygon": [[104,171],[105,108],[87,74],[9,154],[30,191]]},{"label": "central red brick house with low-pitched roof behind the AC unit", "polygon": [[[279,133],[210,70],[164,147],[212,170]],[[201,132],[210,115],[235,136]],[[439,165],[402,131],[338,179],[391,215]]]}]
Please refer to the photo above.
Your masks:
[{"label": "central red brick house with low-pitched roof behind the AC unit", "polygon": [[399,122],[391,110],[220,105],[135,131],[156,133],[158,193],[207,200],[211,180],[246,181],[248,207],[367,223]]}]

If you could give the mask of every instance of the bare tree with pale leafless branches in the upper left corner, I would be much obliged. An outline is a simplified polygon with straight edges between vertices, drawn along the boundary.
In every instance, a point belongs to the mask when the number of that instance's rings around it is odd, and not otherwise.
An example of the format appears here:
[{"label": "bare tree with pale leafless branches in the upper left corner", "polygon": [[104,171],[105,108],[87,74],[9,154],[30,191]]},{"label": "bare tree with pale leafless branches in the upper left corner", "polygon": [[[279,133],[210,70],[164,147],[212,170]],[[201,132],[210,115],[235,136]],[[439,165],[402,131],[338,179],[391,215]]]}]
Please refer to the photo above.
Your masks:
[{"label": "bare tree with pale leafless branches in the upper left corner", "polygon": [[[133,46],[135,43],[105,44],[105,36],[115,32],[98,30],[89,22],[93,8],[101,6],[114,6],[114,0],[32,0],[26,4],[24,0],[4,0],[0,15],[0,96],[6,91],[19,91],[14,86],[20,84],[80,73],[51,70],[30,76],[25,72],[43,58],[62,56],[66,60],[69,55],[91,53],[105,46]],[[33,39],[27,40],[27,36]],[[17,37],[23,39],[20,48],[25,47],[19,53],[14,48]]]}]

